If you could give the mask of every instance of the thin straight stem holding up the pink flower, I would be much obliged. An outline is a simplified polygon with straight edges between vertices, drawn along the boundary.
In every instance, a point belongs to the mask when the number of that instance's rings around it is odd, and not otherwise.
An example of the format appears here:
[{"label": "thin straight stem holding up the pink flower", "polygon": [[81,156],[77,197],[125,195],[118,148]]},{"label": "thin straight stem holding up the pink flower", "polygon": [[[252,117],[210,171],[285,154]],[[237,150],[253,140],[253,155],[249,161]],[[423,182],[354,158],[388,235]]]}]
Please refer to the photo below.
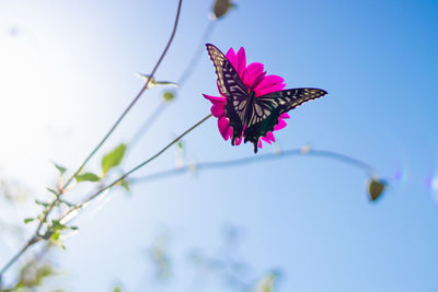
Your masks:
[{"label": "thin straight stem holding up the pink flower", "polygon": [[99,196],[101,196],[104,191],[108,190],[110,188],[114,187],[115,185],[117,185],[119,182],[124,180],[126,177],[128,177],[130,174],[137,172],[138,170],[140,170],[141,167],[143,167],[145,165],[147,165],[148,163],[152,162],[153,160],[155,160],[158,156],[160,156],[162,153],[164,153],[169,148],[171,148],[174,143],[176,143],[177,141],[180,141],[184,136],[186,136],[187,133],[189,133],[192,130],[194,130],[195,128],[197,128],[199,125],[201,125],[204,121],[206,121],[207,119],[209,119],[212,115],[209,114],[208,116],[204,117],[201,120],[199,120],[198,122],[196,122],[195,125],[193,125],[191,128],[188,128],[187,130],[185,130],[182,135],[180,135],[178,137],[176,137],[172,142],[170,142],[169,144],[166,144],[163,149],[161,149],[159,152],[157,152],[154,155],[152,155],[151,157],[149,157],[148,160],[143,161],[142,163],[138,164],[137,166],[135,166],[134,168],[131,168],[130,171],[128,171],[127,173],[125,173],[124,175],[122,175],[120,177],[118,177],[117,179],[115,179],[113,183],[111,183],[110,185],[99,189],[96,192],[94,192],[93,195],[91,195],[89,198],[87,198],[85,200],[83,200],[81,203],[70,208],[65,215],[62,215],[61,218],[61,222],[62,224],[67,223],[68,221],[70,221],[73,217],[70,217],[73,212],[77,212],[78,210],[84,208],[89,202],[91,202],[92,200],[94,200],[95,198],[97,198]]}]

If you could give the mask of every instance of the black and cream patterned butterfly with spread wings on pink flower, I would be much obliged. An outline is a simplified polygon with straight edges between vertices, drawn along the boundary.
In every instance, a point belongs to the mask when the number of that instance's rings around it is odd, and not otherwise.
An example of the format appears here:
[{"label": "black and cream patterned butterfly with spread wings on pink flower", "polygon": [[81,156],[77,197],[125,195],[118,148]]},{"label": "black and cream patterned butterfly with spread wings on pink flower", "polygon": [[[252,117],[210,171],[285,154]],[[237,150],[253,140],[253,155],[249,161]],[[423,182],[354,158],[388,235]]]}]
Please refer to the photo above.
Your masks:
[{"label": "black and cream patterned butterfly with spread wings on pink flower", "polygon": [[206,44],[206,46],[216,69],[218,89],[227,100],[224,113],[233,129],[232,145],[243,133],[244,142],[252,142],[254,153],[257,153],[258,140],[274,130],[281,114],[327,93],[320,89],[303,87],[255,96],[255,92],[243,84],[227,57],[214,45]]}]

